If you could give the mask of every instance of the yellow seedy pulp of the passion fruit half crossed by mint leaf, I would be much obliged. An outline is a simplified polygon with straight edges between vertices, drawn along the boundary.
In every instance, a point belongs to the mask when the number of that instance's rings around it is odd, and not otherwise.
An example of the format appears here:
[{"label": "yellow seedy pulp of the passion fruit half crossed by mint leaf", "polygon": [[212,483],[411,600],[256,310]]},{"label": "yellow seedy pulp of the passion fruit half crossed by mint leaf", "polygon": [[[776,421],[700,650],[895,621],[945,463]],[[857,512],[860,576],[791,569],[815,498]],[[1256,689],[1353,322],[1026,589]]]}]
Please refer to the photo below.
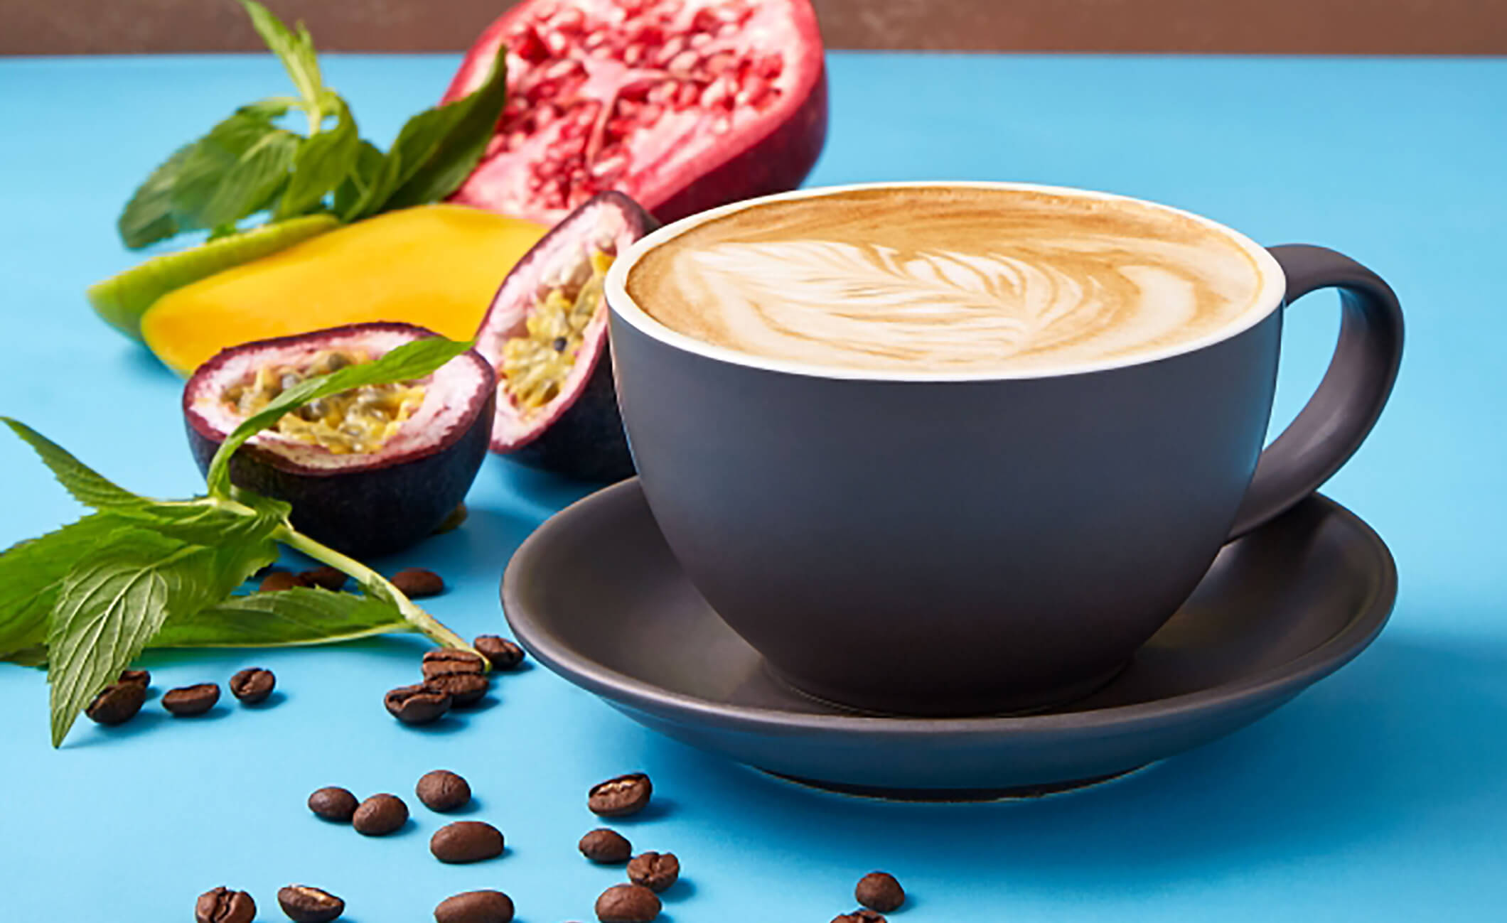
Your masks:
[{"label": "yellow seedy pulp of the passion fruit half crossed by mint leaf", "polygon": [[[312,375],[327,375],[366,361],[371,361],[366,354],[330,349],[316,354],[313,361],[301,367],[262,366],[247,381],[225,388],[223,401],[240,416],[249,417]],[[413,382],[369,384],[310,401],[283,414],[273,429],[335,455],[369,453],[381,449],[422,404],[423,387]]]}]

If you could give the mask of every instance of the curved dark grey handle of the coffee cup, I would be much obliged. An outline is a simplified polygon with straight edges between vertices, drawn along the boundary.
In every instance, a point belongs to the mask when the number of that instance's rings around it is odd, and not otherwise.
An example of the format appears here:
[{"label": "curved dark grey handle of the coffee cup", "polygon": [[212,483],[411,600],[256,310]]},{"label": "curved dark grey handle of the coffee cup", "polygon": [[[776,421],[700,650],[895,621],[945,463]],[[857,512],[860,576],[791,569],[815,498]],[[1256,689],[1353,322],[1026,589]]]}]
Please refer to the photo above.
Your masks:
[{"label": "curved dark grey handle of the coffee cup", "polygon": [[1285,307],[1340,289],[1340,342],[1319,390],[1261,452],[1230,539],[1282,515],[1347,462],[1371,432],[1403,358],[1403,312],[1382,277],[1343,253],[1308,244],[1269,248],[1287,276]]}]

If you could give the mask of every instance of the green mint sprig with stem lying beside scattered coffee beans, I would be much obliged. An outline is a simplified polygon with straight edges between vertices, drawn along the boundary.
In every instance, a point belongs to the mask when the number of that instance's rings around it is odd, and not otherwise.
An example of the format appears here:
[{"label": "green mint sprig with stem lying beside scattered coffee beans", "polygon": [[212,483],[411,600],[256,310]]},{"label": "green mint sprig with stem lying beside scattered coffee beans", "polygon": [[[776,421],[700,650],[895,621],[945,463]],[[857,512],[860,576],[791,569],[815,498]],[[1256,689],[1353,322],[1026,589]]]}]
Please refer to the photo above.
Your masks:
[{"label": "green mint sprig with stem lying beside scattered coffee beans", "polygon": [[[295,530],[286,503],[234,486],[229,462],[256,434],[309,401],[423,378],[469,346],[426,337],[288,388],[226,437],[209,462],[209,492],[188,500],[134,494],[30,426],[0,417],[75,500],[98,510],[0,554],[0,660],[45,658],[53,745],[62,744],[92,696],[148,646],[313,644],[419,631],[440,644],[467,647],[384,577]],[[277,559],[277,544],[339,568],[363,595],[234,596]]]}]

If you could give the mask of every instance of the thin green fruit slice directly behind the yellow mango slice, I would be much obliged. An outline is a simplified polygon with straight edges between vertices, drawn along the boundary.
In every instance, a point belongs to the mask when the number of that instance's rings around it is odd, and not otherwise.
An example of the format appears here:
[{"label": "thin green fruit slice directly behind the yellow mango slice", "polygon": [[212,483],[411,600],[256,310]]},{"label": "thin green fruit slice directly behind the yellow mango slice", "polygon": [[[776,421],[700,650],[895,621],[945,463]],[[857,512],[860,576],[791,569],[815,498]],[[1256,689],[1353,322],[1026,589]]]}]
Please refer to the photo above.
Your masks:
[{"label": "thin green fruit slice directly behind the yellow mango slice", "polygon": [[262,224],[241,233],[154,256],[139,267],[89,286],[89,304],[105,324],[125,336],[142,339],[142,315],[167,292],[277,253],[341,226],[335,215],[304,215]]}]

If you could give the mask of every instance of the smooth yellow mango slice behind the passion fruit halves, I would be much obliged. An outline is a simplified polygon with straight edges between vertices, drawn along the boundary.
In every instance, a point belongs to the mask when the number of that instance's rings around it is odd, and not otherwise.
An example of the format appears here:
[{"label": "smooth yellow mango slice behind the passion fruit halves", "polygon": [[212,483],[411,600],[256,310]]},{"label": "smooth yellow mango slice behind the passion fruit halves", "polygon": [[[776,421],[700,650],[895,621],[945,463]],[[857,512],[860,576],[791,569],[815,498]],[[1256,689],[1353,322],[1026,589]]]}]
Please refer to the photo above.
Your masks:
[{"label": "smooth yellow mango slice behind the passion fruit halves", "polygon": [[546,230],[464,205],[387,212],[167,292],[142,316],[142,337],[182,375],[228,346],[341,324],[407,321],[470,339]]}]

